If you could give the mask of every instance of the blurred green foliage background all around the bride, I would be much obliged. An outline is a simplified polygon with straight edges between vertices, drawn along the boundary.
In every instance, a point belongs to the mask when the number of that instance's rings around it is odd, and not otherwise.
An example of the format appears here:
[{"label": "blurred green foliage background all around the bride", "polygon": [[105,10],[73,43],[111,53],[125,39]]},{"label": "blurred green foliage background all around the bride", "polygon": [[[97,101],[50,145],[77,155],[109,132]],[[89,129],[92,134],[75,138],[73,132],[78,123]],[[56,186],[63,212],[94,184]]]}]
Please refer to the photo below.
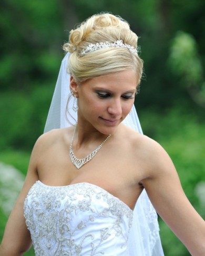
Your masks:
[{"label": "blurred green foliage background all around the bride", "polygon": [[[205,2],[2,0],[0,7],[0,161],[26,174],[68,31],[108,11],[125,18],[140,37],[146,78],[135,104],[142,129],[168,151],[189,200],[205,218],[196,193],[205,180]],[[0,241],[7,218],[0,207]],[[166,256],[190,255],[161,220],[160,229]]]}]

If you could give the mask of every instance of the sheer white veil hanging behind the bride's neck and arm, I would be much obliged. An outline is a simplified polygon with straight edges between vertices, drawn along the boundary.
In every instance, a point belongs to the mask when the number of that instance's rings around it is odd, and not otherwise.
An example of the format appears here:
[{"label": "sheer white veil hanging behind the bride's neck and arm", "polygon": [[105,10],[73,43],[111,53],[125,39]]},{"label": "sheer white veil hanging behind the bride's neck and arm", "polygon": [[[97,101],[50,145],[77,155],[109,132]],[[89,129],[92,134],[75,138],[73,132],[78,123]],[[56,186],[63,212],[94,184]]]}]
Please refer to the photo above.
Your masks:
[{"label": "sheer white veil hanging behind the bride's neck and arm", "polygon": [[[44,132],[56,128],[64,128],[75,125],[75,120],[77,120],[77,114],[70,107],[73,105],[73,97],[70,98],[69,106],[67,106],[68,96],[70,95],[70,75],[67,72],[68,58],[69,54],[66,54],[61,63]],[[66,107],[68,107],[70,114],[67,115],[67,117]],[[132,106],[131,114],[126,117],[123,123],[142,134],[135,106]],[[133,224],[129,234],[127,255],[164,255],[159,236],[157,213],[153,208],[145,190],[142,191],[134,209]]]}]

